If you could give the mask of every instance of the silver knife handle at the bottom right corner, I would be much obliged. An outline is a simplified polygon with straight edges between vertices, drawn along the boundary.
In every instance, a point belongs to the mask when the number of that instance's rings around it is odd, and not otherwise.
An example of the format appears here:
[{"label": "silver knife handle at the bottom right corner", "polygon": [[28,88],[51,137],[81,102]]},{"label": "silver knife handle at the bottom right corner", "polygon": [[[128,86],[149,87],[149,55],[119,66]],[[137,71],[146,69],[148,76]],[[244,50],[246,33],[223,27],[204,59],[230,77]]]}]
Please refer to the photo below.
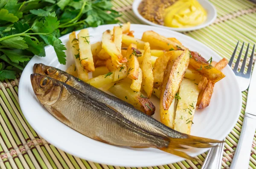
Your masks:
[{"label": "silver knife handle at the bottom right corner", "polygon": [[244,114],[242,131],[236,147],[230,169],[248,168],[253,137],[256,129],[256,117],[248,113]]}]

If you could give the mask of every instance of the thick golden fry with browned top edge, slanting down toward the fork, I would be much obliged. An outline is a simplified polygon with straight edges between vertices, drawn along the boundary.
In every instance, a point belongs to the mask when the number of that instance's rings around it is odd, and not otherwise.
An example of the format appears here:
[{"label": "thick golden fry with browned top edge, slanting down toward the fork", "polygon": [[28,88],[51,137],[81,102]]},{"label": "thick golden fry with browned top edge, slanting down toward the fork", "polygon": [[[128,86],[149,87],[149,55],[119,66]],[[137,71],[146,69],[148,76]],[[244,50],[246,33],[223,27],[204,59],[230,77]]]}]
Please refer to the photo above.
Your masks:
[{"label": "thick golden fry with browned top edge, slanting down toward the fork", "polygon": [[192,58],[189,59],[189,67],[197,70],[198,73],[205,76],[210,81],[216,83],[223,79],[225,75],[215,67],[212,67],[208,62],[201,60],[201,57],[191,52]]}]

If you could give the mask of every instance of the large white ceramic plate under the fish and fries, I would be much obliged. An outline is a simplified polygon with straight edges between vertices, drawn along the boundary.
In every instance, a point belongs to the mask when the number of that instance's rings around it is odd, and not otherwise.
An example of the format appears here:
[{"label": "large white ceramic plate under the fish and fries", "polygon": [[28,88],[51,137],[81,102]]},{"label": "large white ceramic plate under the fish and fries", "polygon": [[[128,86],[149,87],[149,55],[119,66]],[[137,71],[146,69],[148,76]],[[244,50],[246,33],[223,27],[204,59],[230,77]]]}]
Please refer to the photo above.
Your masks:
[{"label": "large white ceramic plate under the fish and fries", "polygon": [[[114,25],[102,25],[97,28],[89,28],[91,43],[99,42],[102,33],[107,29],[113,29]],[[201,42],[186,35],[163,28],[147,25],[131,24],[134,36],[140,38],[144,31],[153,30],[166,37],[176,37],[184,46],[192,51],[198,51],[206,59],[211,56],[213,60],[221,59],[218,54]],[[78,33],[77,31],[76,33]],[[69,35],[60,38],[69,49]],[[46,47],[46,57],[35,56],[23,70],[19,85],[20,107],[29,121],[29,124],[49,143],[57,146],[72,155],[94,161],[97,163],[110,164],[114,166],[157,166],[167,163],[174,163],[183,160],[158,149],[145,148],[135,149],[105,144],[81,135],[79,132],[67,127],[65,124],[54,118],[37,100],[31,86],[30,74],[35,63],[44,63],[66,70],[72,63],[70,50],[66,51],[67,64],[60,65],[51,46]],[[230,67],[223,70],[226,77],[215,85],[211,104],[202,111],[196,111],[191,135],[223,140],[233,129],[239,117],[241,109],[241,92],[239,90],[236,77]],[[155,118],[159,115],[159,101],[155,97],[151,98],[157,107]],[[84,121],[86,123],[86,121]],[[207,149],[190,148],[186,150],[190,155],[199,155]]]}]

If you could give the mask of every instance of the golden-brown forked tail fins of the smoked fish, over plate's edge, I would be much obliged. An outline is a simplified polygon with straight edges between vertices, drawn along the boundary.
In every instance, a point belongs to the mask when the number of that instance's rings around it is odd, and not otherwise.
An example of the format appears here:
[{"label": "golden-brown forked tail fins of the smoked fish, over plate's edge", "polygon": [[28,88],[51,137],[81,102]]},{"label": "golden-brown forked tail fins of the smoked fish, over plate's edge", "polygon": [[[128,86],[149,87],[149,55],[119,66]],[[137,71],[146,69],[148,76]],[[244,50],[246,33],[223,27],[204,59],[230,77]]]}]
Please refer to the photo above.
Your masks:
[{"label": "golden-brown forked tail fins of the smoked fish, over plate's edge", "polygon": [[187,149],[184,146],[192,146],[196,148],[208,148],[208,147],[216,146],[217,143],[224,142],[224,141],[218,141],[218,140],[209,139],[209,138],[201,138],[201,137],[192,136],[192,135],[187,135],[187,138],[168,138],[168,139],[169,139],[169,145],[167,147],[161,147],[158,149],[189,159],[189,160],[195,160],[195,158],[186,154],[186,152],[181,152],[177,149]]}]

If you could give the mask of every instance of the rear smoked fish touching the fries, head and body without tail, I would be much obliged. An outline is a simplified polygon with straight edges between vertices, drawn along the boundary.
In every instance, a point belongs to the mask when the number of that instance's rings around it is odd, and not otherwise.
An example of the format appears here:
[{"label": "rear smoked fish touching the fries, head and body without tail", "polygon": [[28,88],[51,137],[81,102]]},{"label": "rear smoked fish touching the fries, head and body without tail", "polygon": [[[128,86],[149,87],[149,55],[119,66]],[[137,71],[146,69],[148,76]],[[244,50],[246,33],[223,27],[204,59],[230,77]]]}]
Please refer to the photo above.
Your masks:
[{"label": "rear smoked fish touching the fries, head and body without tail", "polygon": [[108,93],[105,93],[104,91],[87,84],[86,82],[83,82],[81,80],[79,81],[78,78],[66,73],[65,71],[44,65],[42,63],[35,64],[33,70],[34,73],[39,73],[52,77],[76,88],[82,93],[90,94],[91,98],[113,107],[115,110],[119,111],[122,115],[124,115],[125,118],[145,130],[163,136],[169,136],[172,138],[187,138],[186,134],[177,132],[167,127],[166,125],[155,120],[154,118],[151,118],[150,116],[135,109],[131,104],[122,101],[121,99],[118,99],[114,96],[111,96]]}]

